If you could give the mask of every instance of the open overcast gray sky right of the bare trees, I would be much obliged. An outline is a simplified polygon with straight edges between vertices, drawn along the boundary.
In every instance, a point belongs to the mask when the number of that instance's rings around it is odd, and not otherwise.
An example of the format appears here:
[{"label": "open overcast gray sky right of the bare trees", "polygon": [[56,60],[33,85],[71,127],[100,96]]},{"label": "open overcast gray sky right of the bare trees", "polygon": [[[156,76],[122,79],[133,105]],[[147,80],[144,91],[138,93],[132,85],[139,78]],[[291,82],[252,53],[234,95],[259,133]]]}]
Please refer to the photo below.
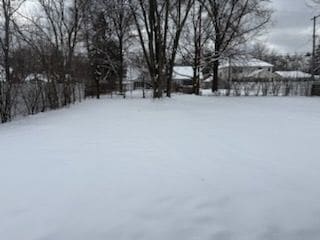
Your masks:
[{"label": "open overcast gray sky right of the bare trees", "polygon": [[[281,53],[307,52],[312,48],[312,21],[320,8],[307,6],[308,0],[272,0],[273,21],[263,41]],[[318,28],[320,33],[320,18]]]}]

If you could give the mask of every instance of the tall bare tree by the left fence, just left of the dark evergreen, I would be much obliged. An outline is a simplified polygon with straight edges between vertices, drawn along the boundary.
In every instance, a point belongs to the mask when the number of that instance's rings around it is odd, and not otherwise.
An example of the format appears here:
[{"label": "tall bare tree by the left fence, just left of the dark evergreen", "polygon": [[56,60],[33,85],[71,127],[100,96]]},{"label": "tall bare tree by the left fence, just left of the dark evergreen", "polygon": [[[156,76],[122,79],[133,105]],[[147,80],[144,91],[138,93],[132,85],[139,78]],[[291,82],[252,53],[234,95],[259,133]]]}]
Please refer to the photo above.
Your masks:
[{"label": "tall bare tree by the left fence, just left of the dark evergreen", "polygon": [[[43,11],[42,22],[36,23],[50,42],[59,67],[55,75],[63,83],[63,105],[72,102],[73,58],[79,43],[87,0],[38,0]],[[60,59],[60,60],[59,60]]]}]

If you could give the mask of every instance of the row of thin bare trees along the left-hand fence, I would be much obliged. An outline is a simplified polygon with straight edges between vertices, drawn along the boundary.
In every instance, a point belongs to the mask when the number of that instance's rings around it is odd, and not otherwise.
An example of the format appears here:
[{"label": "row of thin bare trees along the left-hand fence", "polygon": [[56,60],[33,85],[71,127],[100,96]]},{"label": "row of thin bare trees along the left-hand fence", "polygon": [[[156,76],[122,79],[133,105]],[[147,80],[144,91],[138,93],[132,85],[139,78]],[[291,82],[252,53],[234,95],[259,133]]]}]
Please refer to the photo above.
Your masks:
[{"label": "row of thin bare trees along the left-hand fence", "polygon": [[13,117],[17,89],[31,74],[41,74],[46,82],[50,109],[75,101],[75,52],[86,4],[83,0],[1,1],[1,122]]}]

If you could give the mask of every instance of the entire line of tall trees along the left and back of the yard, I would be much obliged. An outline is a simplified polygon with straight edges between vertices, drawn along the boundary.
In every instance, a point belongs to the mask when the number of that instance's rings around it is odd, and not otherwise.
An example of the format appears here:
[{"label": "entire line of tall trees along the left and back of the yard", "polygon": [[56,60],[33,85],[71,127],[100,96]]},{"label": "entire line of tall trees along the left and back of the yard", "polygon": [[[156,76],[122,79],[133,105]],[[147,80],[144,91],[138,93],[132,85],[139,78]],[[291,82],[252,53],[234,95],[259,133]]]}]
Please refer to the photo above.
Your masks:
[{"label": "entire line of tall trees along the left and back of the yard", "polygon": [[204,65],[216,91],[221,58],[266,28],[271,14],[269,0],[2,0],[1,122],[12,119],[17,86],[30,74],[45,80],[23,96],[41,98],[39,111],[75,102],[77,84],[97,98],[102,83],[125,96],[126,69],[137,63],[153,97],[170,97],[177,58],[193,66],[195,93]]}]

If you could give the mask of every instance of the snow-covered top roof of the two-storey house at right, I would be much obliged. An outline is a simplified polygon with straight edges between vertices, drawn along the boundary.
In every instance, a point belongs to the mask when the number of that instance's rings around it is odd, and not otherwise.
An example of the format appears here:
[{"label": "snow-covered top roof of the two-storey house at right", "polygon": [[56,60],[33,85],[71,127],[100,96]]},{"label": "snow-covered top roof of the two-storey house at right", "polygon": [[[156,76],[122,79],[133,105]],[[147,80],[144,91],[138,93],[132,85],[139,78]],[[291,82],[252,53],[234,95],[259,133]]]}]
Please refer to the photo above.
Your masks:
[{"label": "snow-covered top roof of the two-storey house at right", "polygon": [[222,60],[219,68],[226,67],[273,67],[272,64],[257,58],[232,58],[231,60]]}]

